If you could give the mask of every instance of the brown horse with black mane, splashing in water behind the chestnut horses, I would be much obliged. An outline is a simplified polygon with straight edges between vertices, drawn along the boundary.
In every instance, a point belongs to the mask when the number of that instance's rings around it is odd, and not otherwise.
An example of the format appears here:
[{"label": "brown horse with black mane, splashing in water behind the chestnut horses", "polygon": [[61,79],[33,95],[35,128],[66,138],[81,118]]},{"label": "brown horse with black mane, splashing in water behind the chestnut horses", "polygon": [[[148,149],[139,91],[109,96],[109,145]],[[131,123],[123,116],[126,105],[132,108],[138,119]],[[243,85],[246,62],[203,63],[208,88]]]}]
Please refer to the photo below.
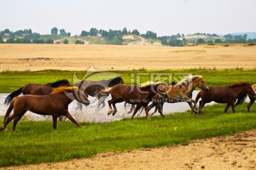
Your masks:
[{"label": "brown horse with black mane, splashing in water behind the chestnut horses", "polygon": [[[96,97],[101,90],[104,90],[106,87],[113,87],[117,84],[124,84],[124,80],[122,80],[121,77],[100,81],[82,80],[79,83],[75,83],[75,86],[79,87],[83,92],[85,92],[85,95]],[[105,107],[106,97],[107,95],[102,95],[100,97],[97,108],[100,108],[100,105],[102,105],[101,108]]]}]

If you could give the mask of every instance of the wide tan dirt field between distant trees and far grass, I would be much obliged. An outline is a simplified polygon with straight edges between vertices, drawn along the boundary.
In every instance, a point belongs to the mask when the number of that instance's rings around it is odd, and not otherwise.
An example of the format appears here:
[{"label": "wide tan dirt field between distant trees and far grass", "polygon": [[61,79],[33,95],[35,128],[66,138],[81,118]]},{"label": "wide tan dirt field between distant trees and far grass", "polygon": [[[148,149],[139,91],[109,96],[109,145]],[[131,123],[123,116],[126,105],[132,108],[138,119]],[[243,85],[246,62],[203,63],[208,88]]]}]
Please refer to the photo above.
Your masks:
[{"label": "wide tan dirt field between distant trees and far grass", "polygon": [[256,46],[107,46],[0,44],[2,70],[255,68]]}]

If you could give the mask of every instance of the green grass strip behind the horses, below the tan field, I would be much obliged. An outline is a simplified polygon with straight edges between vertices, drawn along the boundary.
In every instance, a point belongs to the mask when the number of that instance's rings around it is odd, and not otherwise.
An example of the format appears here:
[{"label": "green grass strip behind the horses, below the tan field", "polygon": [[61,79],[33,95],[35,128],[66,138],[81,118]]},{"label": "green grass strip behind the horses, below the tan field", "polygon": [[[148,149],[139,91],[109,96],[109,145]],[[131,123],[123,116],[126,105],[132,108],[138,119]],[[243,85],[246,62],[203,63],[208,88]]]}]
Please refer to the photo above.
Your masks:
[{"label": "green grass strip behind the horses, below the tan field", "polygon": [[[85,71],[68,71],[68,70],[41,70],[41,71],[4,71],[0,73],[0,92],[13,92],[18,88],[28,83],[46,84],[55,82],[60,79],[68,79],[70,83],[73,82],[73,75],[75,74],[78,79],[82,80],[85,75]],[[143,83],[147,80],[151,80],[151,76],[161,75],[161,78],[169,78],[166,82],[172,80],[178,80],[179,76],[186,74],[203,75],[204,80],[209,86],[223,86],[231,85],[233,83],[248,81],[251,84],[256,83],[254,70],[242,70],[238,68],[235,70],[215,70],[209,68],[189,69],[189,70],[126,70],[126,71],[111,71],[100,72],[90,75],[87,80],[102,80],[114,78],[117,75],[121,75],[124,83]]]}]

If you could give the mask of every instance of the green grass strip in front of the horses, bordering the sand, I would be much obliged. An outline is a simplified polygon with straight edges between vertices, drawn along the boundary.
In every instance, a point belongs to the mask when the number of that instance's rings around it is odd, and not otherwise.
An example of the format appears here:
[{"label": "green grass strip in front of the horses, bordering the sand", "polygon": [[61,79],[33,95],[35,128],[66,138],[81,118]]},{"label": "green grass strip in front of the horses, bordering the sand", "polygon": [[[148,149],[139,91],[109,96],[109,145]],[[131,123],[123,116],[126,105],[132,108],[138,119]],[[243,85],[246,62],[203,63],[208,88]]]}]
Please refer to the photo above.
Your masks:
[{"label": "green grass strip in front of the horses, bordering the sand", "polygon": [[[97,153],[122,152],[146,147],[186,144],[193,139],[235,134],[256,128],[256,108],[246,112],[246,103],[237,112],[223,114],[225,105],[204,107],[199,119],[190,111],[151,119],[123,119],[105,124],[82,123],[75,127],[70,121],[18,122],[16,132],[11,124],[0,132],[0,166],[39,164],[90,157]],[[0,124],[2,124],[2,119]]]}]

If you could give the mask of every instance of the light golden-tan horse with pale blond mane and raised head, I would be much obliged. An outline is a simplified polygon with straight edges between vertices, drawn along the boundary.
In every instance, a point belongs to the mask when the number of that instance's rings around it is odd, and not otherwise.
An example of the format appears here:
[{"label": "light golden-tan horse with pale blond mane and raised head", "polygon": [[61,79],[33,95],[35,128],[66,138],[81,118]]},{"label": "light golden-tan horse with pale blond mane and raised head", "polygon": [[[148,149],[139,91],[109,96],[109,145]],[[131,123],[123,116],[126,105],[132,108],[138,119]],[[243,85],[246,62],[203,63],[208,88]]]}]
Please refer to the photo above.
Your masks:
[{"label": "light golden-tan horse with pale blond mane and raised head", "polygon": [[166,86],[166,91],[168,92],[169,97],[164,100],[160,95],[156,94],[153,99],[151,105],[149,105],[149,110],[151,108],[156,107],[155,111],[151,113],[154,115],[156,110],[159,111],[160,115],[164,117],[162,112],[164,102],[175,103],[175,102],[188,102],[189,107],[191,107],[192,113],[196,113],[192,103],[196,104],[195,100],[192,98],[192,92],[195,88],[198,87],[203,91],[208,90],[208,85],[206,84],[205,80],[203,80],[202,75],[193,75],[187,76],[180,80],[178,83],[172,82],[171,84]]}]

